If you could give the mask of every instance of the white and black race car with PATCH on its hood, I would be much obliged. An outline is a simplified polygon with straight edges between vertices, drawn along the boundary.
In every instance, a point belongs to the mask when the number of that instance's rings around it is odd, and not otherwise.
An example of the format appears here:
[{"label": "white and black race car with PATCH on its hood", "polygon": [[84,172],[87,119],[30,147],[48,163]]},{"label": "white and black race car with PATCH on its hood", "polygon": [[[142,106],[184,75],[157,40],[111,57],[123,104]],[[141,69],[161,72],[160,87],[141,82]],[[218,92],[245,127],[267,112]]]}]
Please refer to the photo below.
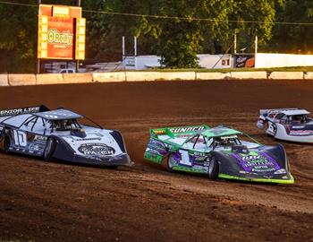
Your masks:
[{"label": "white and black race car with PATCH on its hood", "polygon": [[[80,124],[87,119],[92,125]],[[114,167],[130,165],[122,134],[103,129],[69,109],[45,106],[0,110],[0,139],[5,152]]]}]

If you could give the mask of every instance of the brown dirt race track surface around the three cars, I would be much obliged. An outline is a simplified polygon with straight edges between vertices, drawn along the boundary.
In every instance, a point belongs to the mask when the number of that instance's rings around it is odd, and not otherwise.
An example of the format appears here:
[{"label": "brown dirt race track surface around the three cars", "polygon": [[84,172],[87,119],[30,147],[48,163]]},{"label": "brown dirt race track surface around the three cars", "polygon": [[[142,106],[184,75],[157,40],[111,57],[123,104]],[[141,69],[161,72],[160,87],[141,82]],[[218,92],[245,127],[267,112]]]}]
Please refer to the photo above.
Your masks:
[{"label": "brown dirt race track surface around the three cars", "polygon": [[0,153],[0,241],[313,241],[313,145],[283,143],[293,186],[170,174],[148,128],[230,125],[261,143],[259,108],[313,111],[310,81],[124,82],[0,88],[0,108],[72,108],[123,132],[133,168]]}]

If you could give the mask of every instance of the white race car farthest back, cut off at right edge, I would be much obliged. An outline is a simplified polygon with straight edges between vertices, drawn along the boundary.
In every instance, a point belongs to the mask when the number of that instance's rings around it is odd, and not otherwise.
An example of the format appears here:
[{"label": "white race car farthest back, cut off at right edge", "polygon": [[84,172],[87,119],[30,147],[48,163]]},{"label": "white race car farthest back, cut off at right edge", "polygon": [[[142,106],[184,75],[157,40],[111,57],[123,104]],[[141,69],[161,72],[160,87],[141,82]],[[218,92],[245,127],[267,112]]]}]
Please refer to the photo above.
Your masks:
[{"label": "white race car farthest back, cut off at right edge", "polygon": [[313,120],[309,111],[299,108],[261,109],[257,126],[276,139],[313,143]]}]

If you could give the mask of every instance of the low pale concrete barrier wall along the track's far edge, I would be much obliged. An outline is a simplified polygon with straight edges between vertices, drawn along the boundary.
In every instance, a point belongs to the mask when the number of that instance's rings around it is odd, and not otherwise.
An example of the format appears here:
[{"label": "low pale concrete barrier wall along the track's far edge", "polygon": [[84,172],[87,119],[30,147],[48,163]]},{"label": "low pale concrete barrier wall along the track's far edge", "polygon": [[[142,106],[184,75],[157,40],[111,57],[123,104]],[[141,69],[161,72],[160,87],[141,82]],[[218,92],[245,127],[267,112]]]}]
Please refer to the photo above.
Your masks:
[{"label": "low pale concrete barrier wall along the track's far edge", "polygon": [[303,72],[113,72],[113,73],[43,73],[0,74],[0,86],[46,85],[93,82],[201,81],[201,80],[313,80],[313,73]]}]

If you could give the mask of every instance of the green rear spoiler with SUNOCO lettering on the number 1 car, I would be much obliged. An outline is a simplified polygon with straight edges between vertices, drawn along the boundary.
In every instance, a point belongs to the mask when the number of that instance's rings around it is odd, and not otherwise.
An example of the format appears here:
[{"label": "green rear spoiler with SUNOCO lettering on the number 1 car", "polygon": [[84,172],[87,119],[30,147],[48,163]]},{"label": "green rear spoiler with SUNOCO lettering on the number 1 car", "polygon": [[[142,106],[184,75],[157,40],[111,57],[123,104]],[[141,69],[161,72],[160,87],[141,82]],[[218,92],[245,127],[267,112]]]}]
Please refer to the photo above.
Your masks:
[{"label": "green rear spoiler with SUNOCO lettering on the number 1 car", "polygon": [[182,134],[198,134],[198,131],[203,131],[208,129],[208,125],[191,125],[191,126],[179,126],[179,127],[165,127],[150,129],[150,136],[157,137],[158,135],[168,135],[170,137],[175,137]]}]

